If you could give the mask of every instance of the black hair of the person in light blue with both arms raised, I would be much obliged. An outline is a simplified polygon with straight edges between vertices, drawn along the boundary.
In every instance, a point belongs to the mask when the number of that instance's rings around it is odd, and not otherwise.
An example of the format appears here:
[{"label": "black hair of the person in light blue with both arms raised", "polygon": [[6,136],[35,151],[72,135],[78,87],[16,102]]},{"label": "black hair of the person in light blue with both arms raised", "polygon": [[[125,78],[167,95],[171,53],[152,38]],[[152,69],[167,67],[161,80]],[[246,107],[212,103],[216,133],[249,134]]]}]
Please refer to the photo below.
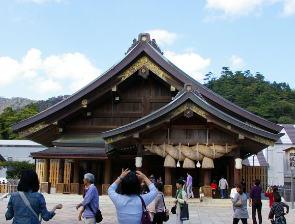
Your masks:
[{"label": "black hair of the person in light blue with both arms raised", "polygon": [[123,194],[131,195],[138,194],[140,192],[140,182],[135,172],[130,172],[123,178],[121,183],[121,189]]}]

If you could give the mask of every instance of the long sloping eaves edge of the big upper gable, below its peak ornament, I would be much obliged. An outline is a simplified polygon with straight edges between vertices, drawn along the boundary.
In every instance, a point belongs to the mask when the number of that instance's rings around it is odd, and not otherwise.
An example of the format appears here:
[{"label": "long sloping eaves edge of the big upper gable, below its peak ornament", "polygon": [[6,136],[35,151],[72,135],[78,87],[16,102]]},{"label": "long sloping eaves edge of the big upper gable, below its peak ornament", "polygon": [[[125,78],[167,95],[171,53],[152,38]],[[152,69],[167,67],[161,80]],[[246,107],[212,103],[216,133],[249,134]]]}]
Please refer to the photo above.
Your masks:
[{"label": "long sloping eaves edge of the big upper gable, below its peak ornament", "polygon": [[[174,64],[172,64],[169,60],[167,60],[162,55],[162,53],[159,50],[157,50],[154,46],[152,46],[149,42],[146,42],[146,41],[138,41],[138,43],[134,46],[134,48],[130,52],[128,52],[121,61],[117,62],[115,65],[110,67],[106,72],[104,72],[102,75],[97,77],[95,80],[90,82],[88,85],[86,85],[85,87],[77,91],[76,93],[72,94],[71,96],[64,99],[63,101],[49,107],[48,109],[42,111],[41,113],[31,118],[28,118],[16,124],[13,124],[11,126],[12,129],[16,132],[20,129],[29,127],[33,124],[40,123],[42,122],[43,119],[58,113],[58,111],[60,111],[64,107],[70,106],[74,102],[83,99],[84,97],[86,97],[87,94],[91,93],[93,90],[100,87],[105,81],[109,80],[111,77],[114,77],[114,75],[122,72],[122,70],[124,70],[126,66],[130,65],[130,63],[132,63],[143,52],[148,57],[153,59],[153,61],[155,61],[167,73],[173,75],[174,77],[182,81],[183,84],[192,82],[194,89],[198,89],[199,92],[204,97],[216,102],[221,107],[227,108],[233,113],[237,114],[238,116],[244,117],[245,119],[248,119],[249,121],[253,122],[254,125],[257,124],[257,125],[263,126],[271,130],[273,133],[278,133],[281,131],[282,129],[281,126],[250,113],[249,111],[233,104],[232,102],[224,99],[223,97],[219,96],[212,90],[206,88],[201,83],[199,83],[198,81],[193,79],[191,76],[183,72]],[[60,116],[60,118],[62,119],[63,116],[65,115],[61,113],[58,116]]]}]

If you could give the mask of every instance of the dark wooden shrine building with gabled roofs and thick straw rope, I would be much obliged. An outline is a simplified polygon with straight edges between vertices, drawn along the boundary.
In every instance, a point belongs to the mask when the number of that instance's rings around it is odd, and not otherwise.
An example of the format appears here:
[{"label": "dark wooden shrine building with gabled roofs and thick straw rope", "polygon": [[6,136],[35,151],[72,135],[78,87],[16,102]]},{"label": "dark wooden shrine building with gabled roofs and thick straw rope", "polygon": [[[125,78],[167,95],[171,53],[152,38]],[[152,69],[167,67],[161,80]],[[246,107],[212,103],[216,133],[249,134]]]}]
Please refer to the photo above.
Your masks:
[{"label": "dark wooden shrine building with gabled roofs and thick straw rope", "polygon": [[[129,168],[162,176],[167,196],[175,195],[175,180],[189,171],[196,196],[199,183],[210,196],[209,186],[221,175],[230,187],[251,176],[235,161],[274,146],[283,127],[206,88],[142,33],[94,81],[12,128],[48,147],[31,153],[44,192],[82,193],[83,175],[92,173],[99,194],[107,194],[122,168]],[[135,157],[142,158],[141,167]],[[251,178],[267,182],[265,170]]]}]

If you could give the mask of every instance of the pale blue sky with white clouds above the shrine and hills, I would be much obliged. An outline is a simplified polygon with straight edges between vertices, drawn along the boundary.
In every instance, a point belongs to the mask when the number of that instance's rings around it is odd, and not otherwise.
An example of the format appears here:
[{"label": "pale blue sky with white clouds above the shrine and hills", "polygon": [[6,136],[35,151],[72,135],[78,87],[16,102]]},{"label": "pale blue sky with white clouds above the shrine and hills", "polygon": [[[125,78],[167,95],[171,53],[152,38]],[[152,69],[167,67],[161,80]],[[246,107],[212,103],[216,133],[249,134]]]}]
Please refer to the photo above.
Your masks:
[{"label": "pale blue sky with white clouds above the shrine and hills", "polygon": [[3,0],[0,27],[6,98],[73,94],[144,32],[201,83],[226,66],[295,88],[295,0]]}]

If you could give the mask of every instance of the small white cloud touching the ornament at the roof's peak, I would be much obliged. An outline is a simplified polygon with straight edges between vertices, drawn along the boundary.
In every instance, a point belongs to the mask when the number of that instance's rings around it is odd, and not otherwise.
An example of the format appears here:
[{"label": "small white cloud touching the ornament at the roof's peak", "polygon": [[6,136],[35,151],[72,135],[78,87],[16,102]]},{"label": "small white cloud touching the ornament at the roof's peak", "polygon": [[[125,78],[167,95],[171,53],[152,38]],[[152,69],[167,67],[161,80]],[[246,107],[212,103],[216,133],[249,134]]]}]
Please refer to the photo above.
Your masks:
[{"label": "small white cloud touching the ornament at the roof's peak", "polygon": [[151,39],[155,39],[159,46],[164,44],[172,44],[178,38],[177,34],[169,33],[165,30],[150,30],[145,31],[144,33],[149,33]]}]

